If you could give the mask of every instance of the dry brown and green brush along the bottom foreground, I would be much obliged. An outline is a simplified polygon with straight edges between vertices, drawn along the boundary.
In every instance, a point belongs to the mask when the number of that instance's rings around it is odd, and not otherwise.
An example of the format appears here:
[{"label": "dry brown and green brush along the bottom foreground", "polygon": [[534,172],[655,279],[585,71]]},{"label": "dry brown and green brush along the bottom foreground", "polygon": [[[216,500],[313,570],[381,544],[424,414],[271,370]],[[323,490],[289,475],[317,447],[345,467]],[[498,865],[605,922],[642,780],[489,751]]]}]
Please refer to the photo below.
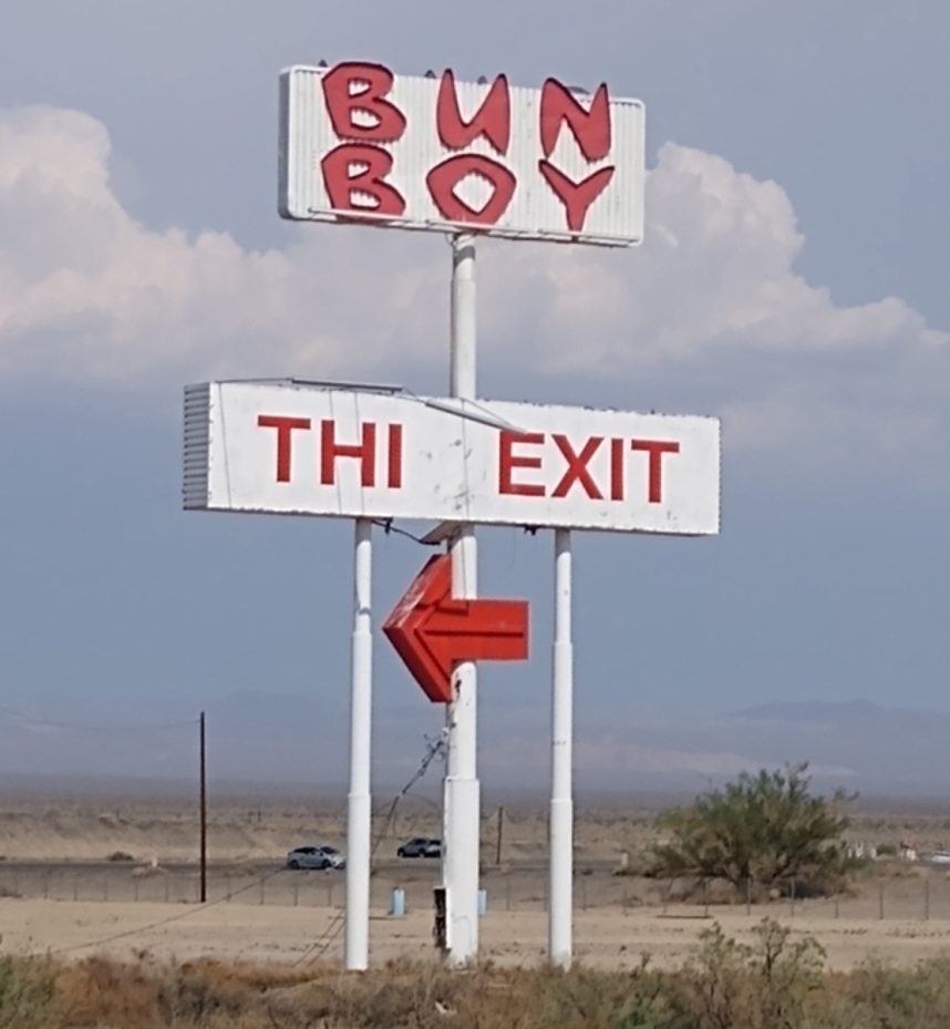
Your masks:
[{"label": "dry brown and green brush along the bottom foreground", "polygon": [[946,1029],[950,959],[828,974],[820,947],[763,922],[709,930],[674,971],[546,968],[365,975],[202,960],[0,959],[2,1029]]}]

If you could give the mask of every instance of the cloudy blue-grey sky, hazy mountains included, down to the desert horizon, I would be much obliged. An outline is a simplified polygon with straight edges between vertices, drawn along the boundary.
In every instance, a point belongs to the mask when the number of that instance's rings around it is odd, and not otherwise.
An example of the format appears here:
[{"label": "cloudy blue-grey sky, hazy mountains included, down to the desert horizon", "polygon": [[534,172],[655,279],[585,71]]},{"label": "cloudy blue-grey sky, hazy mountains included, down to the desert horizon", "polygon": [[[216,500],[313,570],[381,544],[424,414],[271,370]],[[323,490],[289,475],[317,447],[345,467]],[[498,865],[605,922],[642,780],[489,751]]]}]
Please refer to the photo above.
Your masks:
[{"label": "cloudy blue-grey sky, hazy mountains included, down to the desert horizon", "polygon": [[[719,537],[575,542],[578,782],[809,759],[946,791],[948,35],[941,0],[18,4],[0,773],[190,773],[204,709],[220,779],[344,781],[352,528],[184,513],[182,388],[444,393],[444,241],[276,210],[280,69],[369,59],[647,105],[641,247],[478,257],[481,395],[723,422]],[[481,769],[540,789],[553,541],[479,537],[482,588],[533,630],[529,662],[482,671]],[[375,554],[379,624],[427,554]],[[399,783],[442,712],[381,636],[374,667],[374,774]]]}]

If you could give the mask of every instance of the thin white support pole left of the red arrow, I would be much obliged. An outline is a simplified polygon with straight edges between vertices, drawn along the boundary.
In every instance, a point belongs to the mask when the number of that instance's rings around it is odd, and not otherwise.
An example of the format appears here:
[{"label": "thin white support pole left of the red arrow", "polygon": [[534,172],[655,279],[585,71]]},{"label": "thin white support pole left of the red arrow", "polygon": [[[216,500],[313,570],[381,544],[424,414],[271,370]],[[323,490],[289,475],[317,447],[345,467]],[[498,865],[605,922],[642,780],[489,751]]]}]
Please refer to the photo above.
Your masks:
[{"label": "thin white support pole left of the red arrow", "polygon": [[370,744],[372,738],[372,523],[357,518],[353,546],[353,642],[350,665],[350,793],[347,806],[347,968],[370,957]]}]

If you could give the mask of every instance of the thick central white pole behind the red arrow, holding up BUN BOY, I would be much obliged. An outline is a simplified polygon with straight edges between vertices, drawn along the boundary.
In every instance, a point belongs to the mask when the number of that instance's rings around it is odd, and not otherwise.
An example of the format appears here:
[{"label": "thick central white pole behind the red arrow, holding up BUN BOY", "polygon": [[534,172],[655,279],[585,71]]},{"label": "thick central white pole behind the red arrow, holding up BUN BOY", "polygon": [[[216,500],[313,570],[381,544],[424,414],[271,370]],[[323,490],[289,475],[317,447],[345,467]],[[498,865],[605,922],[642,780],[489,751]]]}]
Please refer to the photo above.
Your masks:
[{"label": "thick central white pole behind the red arrow, holding up BUN BOY", "polygon": [[[475,399],[475,239],[452,240],[451,394]],[[465,422],[463,422],[463,432]],[[473,526],[464,525],[450,544],[452,595],[477,596],[477,549]],[[467,965],[478,956],[477,671],[461,662],[448,704],[448,759],[445,774],[443,885],[448,960]]]}]

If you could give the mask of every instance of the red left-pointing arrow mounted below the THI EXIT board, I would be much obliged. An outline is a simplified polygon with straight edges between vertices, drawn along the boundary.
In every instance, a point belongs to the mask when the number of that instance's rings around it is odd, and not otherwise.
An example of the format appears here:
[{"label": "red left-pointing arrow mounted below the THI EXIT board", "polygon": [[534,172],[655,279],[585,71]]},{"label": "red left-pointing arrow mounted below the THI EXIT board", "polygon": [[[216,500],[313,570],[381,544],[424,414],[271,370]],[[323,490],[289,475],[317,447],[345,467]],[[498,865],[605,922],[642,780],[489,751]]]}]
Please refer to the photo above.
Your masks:
[{"label": "red left-pointing arrow mounted below the THI EXIT board", "polygon": [[451,594],[450,556],[432,557],[383,625],[435,703],[452,700],[456,661],[524,661],[528,656],[527,600],[459,600]]}]

